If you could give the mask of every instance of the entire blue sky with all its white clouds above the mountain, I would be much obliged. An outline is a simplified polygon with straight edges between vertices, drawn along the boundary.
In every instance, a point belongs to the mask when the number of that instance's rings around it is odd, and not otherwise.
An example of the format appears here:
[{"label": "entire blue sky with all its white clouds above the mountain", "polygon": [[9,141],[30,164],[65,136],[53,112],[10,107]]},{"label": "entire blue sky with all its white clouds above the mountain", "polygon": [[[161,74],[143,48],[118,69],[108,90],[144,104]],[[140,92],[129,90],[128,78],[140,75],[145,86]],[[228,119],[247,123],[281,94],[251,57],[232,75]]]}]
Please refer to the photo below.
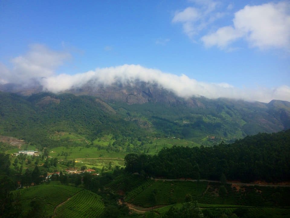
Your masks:
[{"label": "entire blue sky with all its white clouds above the mountain", "polygon": [[290,1],[0,0],[0,83],[290,101]]}]

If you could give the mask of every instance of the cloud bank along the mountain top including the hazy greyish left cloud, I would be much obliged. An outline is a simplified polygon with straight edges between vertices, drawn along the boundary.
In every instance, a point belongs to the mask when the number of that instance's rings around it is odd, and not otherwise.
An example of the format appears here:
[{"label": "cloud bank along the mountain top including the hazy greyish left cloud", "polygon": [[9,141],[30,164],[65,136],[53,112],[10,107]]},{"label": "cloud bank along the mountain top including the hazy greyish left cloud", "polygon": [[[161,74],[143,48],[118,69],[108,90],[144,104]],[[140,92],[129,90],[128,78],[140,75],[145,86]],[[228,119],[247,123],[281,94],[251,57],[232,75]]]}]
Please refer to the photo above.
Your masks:
[{"label": "cloud bank along the mountain top including the hazy greyish left cloud", "polygon": [[31,84],[37,81],[43,90],[60,92],[87,84],[109,86],[115,82],[133,84],[136,80],[157,83],[180,97],[205,96],[208,98],[234,98],[247,101],[269,102],[272,99],[290,101],[290,87],[240,89],[227,83],[207,83],[188,76],[162,72],[140,65],[124,64],[116,67],[97,68],[93,71],[69,75],[56,74],[55,69],[70,54],[52,51],[43,45],[33,45],[27,54],[13,58],[12,68],[0,63],[0,83]]}]

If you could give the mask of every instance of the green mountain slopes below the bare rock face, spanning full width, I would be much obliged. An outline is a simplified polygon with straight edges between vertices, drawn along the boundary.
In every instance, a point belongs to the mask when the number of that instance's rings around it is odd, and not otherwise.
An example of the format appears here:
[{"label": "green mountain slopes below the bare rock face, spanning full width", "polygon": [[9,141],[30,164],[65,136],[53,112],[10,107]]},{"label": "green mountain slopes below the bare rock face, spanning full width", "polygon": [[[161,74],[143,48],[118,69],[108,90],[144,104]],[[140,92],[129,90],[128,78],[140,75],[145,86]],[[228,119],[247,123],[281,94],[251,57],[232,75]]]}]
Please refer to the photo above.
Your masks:
[{"label": "green mountain slopes below the bare rock face, spanning full width", "polygon": [[[201,97],[192,100],[195,105],[182,99],[175,104],[128,104],[73,94],[22,97],[5,92],[0,92],[0,99],[0,134],[24,139],[39,149],[111,142],[112,150],[124,149],[125,144],[137,149],[131,152],[149,148],[151,153],[148,137],[214,145],[290,127],[290,107],[283,101],[265,104]],[[110,139],[102,140],[108,135]]]}]

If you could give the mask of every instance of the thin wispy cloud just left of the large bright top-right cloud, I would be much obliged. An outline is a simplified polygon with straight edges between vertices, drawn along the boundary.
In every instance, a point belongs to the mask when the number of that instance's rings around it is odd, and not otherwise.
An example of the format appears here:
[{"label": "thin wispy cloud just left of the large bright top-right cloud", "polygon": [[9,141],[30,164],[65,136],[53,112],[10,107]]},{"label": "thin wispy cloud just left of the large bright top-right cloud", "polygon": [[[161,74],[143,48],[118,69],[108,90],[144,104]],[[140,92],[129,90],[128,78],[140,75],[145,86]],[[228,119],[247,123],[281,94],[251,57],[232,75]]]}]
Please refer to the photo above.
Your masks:
[{"label": "thin wispy cloud just left of the large bright top-right cloud", "polygon": [[197,7],[187,7],[183,11],[177,11],[172,19],[173,23],[182,23],[183,31],[193,39],[201,30],[210,23],[221,18],[224,13],[213,11],[219,2],[211,0],[192,0]]}]

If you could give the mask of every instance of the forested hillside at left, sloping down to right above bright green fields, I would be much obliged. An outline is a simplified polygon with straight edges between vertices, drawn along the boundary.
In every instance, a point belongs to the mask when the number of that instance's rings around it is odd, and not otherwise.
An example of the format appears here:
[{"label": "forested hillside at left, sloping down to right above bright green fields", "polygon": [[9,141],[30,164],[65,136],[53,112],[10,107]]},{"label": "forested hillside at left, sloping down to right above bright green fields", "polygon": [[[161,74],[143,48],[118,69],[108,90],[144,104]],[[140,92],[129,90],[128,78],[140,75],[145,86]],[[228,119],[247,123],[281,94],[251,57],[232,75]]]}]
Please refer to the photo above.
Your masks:
[{"label": "forested hillside at left, sloping down to right above bright green fields", "polygon": [[40,93],[24,98],[0,92],[0,99],[0,134],[24,139],[40,149],[60,146],[61,142],[51,137],[60,131],[77,133],[89,140],[104,134],[115,138],[142,135],[135,122],[108,111],[105,103],[95,97]]}]

